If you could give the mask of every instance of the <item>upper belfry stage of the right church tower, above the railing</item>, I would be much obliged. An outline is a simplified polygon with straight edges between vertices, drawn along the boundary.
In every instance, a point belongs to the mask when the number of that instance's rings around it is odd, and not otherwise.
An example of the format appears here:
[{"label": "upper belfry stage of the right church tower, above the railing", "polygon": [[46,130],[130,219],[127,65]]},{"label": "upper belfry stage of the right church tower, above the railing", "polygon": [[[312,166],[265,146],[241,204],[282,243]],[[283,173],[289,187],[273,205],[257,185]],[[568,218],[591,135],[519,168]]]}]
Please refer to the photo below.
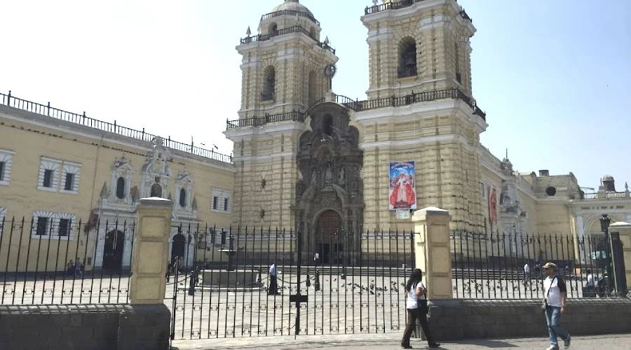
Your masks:
[{"label": "upper belfry stage of the right church tower, above the railing", "polygon": [[473,22],[455,0],[384,1],[365,10],[368,98],[456,88],[471,95]]}]

